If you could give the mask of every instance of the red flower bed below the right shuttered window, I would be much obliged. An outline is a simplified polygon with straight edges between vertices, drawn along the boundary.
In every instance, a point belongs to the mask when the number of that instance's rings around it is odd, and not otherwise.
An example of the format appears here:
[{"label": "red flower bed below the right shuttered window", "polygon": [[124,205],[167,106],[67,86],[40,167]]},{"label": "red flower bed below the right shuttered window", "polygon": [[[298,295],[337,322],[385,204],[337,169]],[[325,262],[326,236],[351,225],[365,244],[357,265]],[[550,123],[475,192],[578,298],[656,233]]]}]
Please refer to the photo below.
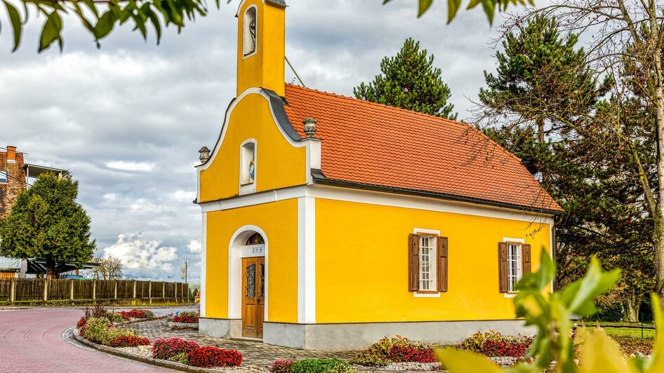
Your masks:
[{"label": "red flower bed below the right shuttered window", "polygon": [[510,337],[498,332],[477,332],[464,339],[458,346],[461,350],[482,353],[489,358],[523,358],[533,339],[530,337]]}]

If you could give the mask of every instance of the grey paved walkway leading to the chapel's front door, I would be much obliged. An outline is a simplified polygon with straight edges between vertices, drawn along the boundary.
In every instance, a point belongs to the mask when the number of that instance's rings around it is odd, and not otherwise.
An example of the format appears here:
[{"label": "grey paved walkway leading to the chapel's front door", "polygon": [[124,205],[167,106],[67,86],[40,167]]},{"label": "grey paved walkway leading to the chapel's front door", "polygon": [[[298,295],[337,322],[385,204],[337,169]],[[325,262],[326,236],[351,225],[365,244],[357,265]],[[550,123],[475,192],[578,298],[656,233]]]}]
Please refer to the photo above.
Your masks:
[{"label": "grey paved walkway leading to the chapel's front door", "polygon": [[195,330],[171,330],[168,322],[164,319],[146,321],[145,323],[135,323],[128,325],[138,331],[138,334],[147,337],[150,341],[158,338],[180,337],[188,341],[197,341],[201,346],[218,346],[219,348],[232,349],[239,351],[244,356],[242,365],[258,365],[259,367],[269,368],[274,360],[302,360],[302,359],[323,359],[338,358],[343,360],[352,359],[360,351],[354,348],[345,348],[342,350],[315,350],[305,351],[296,348],[273,346],[255,341],[239,341],[234,339],[223,339],[208,337],[199,334]]}]

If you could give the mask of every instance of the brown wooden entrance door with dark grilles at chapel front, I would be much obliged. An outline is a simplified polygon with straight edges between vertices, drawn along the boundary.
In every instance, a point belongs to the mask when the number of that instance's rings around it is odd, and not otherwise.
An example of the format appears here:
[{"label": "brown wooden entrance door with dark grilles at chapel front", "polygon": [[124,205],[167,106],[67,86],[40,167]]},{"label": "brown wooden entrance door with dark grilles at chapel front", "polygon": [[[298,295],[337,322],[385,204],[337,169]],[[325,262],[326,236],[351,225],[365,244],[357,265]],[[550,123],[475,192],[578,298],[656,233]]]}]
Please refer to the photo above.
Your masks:
[{"label": "brown wooden entrance door with dark grilles at chapel front", "polygon": [[263,338],[265,257],[242,258],[242,336]]}]

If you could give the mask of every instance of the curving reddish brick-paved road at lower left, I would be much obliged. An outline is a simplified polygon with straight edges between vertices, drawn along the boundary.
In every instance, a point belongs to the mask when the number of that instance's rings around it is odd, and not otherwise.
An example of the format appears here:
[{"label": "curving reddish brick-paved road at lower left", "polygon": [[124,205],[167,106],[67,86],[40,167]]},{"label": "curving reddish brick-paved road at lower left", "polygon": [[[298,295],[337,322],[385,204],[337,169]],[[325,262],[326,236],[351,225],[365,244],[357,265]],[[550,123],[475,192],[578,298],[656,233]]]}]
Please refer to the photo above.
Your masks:
[{"label": "curving reddish brick-paved road at lower left", "polygon": [[0,311],[0,372],[174,372],[62,339],[81,315],[72,308]]}]

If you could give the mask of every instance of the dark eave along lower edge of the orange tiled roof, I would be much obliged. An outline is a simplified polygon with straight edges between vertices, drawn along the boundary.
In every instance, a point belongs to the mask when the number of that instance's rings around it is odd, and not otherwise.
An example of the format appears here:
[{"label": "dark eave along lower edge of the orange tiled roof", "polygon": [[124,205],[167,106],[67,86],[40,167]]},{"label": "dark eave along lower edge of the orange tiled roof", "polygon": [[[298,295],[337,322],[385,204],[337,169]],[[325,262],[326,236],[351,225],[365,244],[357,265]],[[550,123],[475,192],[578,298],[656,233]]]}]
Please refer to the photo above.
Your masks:
[{"label": "dark eave along lower edge of the orange tiled roof", "polygon": [[465,197],[465,196],[456,196],[454,194],[445,194],[445,193],[437,193],[437,192],[431,192],[431,191],[416,191],[412,189],[403,189],[403,188],[396,188],[393,186],[380,186],[380,185],[373,185],[373,184],[364,184],[364,183],[359,183],[359,182],[348,182],[345,180],[338,180],[338,179],[328,179],[323,175],[323,172],[321,170],[311,170],[312,174],[312,180],[314,183],[317,184],[327,184],[327,185],[333,185],[333,186],[344,186],[346,188],[353,188],[353,189],[364,189],[364,190],[369,190],[369,191],[383,191],[383,192],[389,192],[389,193],[396,193],[396,194],[406,194],[409,196],[420,196],[420,197],[429,197],[429,198],[439,198],[439,199],[446,199],[449,201],[459,201],[459,202],[467,202],[467,203],[475,203],[479,205],[489,205],[493,207],[498,207],[498,208],[509,208],[512,210],[522,210],[526,212],[535,212],[537,214],[541,215],[552,215],[552,216],[559,216],[562,215],[564,211],[561,210],[550,210],[550,209],[543,209],[543,208],[533,208],[533,207],[528,207],[528,206],[522,206],[522,205],[512,205],[510,203],[503,203],[503,202],[498,202],[498,201],[488,201],[484,199],[479,199],[479,198],[472,198],[472,197]]}]

